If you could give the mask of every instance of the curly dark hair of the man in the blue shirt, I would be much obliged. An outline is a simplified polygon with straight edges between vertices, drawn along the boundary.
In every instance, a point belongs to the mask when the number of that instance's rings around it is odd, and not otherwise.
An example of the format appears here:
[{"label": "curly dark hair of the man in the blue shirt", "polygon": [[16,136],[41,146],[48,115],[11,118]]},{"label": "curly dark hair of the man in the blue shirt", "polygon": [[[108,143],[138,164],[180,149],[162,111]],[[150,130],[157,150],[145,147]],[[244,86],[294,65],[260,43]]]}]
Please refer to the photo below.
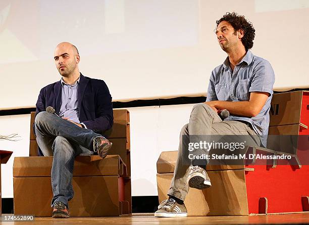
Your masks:
[{"label": "curly dark hair of the man in the blue shirt", "polygon": [[241,42],[244,45],[246,51],[253,46],[253,40],[255,36],[255,29],[251,22],[248,22],[244,16],[238,16],[237,13],[226,13],[220,20],[217,20],[217,27],[222,22],[229,22],[236,31],[243,30],[244,35],[241,38]]}]

